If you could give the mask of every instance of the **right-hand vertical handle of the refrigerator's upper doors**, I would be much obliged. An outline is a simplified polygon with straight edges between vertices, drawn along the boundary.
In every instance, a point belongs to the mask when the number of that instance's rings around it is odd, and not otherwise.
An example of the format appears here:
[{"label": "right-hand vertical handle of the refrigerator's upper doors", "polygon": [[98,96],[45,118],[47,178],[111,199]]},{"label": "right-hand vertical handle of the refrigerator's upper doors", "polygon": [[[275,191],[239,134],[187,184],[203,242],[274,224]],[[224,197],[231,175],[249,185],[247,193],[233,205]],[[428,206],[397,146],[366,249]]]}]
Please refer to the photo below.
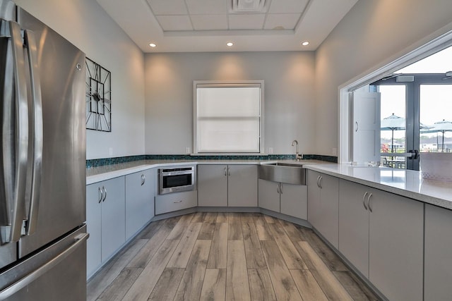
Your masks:
[{"label": "right-hand vertical handle of the refrigerator's upper doors", "polygon": [[37,212],[40,202],[40,188],[42,176],[42,98],[39,66],[37,65],[37,46],[35,33],[25,30],[25,45],[28,49],[28,67],[30,70],[31,106],[30,106],[30,137],[31,146],[29,162],[31,164],[31,176],[28,179],[30,210],[26,227],[27,235],[35,233],[37,225]]}]

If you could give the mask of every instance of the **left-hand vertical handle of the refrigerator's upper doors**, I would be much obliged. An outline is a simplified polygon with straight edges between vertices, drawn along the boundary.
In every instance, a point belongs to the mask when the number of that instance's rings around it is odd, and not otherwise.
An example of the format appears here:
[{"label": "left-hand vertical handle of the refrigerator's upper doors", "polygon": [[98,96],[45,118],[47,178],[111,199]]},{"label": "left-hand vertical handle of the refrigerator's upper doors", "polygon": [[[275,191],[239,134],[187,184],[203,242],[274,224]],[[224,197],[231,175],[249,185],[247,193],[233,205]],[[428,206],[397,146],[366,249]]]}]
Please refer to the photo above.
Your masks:
[{"label": "left-hand vertical handle of the refrigerator's upper doors", "polygon": [[[22,234],[23,218],[25,216],[25,187],[28,160],[28,99],[25,78],[25,59],[20,25],[8,21],[8,34],[11,38],[11,55],[13,70],[13,85],[15,104],[11,106],[11,114],[6,108],[3,122],[3,156],[4,193],[6,208],[6,224],[1,225],[3,242],[16,242]],[[10,101],[4,99],[4,106]],[[11,103],[12,104],[12,103]],[[12,176],[11,176],[12,175]]]}]

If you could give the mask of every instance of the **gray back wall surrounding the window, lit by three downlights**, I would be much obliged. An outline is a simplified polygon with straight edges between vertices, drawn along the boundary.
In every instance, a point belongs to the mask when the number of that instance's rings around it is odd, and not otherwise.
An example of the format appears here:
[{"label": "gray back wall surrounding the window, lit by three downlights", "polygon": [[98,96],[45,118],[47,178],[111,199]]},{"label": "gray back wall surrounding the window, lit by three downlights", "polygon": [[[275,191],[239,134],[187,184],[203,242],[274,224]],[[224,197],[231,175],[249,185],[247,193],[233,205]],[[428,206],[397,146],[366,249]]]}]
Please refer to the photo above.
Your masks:
[{"label": "gray back wall surrounding the window, lit by three downlights", "polygon": [[145,55],[145,152],[193,151],[193,81],[264,80],[265,150],[314,152],[314,53]]}]

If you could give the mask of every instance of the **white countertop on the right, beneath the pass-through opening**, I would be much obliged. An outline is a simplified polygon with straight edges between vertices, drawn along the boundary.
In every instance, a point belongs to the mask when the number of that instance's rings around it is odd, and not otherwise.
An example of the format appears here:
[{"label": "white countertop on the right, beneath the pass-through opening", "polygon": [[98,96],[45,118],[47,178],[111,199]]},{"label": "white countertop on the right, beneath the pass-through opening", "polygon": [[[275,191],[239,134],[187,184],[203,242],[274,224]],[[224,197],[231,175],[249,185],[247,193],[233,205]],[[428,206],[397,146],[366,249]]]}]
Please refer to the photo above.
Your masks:
[{"label": "white countertop on the right, beneath the pass-through opening", "polygon": [[452,209],[452,182],[423,179],[420,171],[349,164],[314,164],[304,167],[403,197]]}]

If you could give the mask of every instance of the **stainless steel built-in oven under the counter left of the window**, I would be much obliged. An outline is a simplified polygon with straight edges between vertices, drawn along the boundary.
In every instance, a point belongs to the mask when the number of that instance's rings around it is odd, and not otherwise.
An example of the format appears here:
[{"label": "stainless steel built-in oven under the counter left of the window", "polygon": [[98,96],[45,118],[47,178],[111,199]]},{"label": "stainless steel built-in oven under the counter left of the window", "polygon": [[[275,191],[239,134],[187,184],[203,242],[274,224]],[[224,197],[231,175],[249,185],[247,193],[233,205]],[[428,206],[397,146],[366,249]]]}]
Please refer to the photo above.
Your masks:
[{"label": "stainless steel built-in oven under the counter left of the window", "polygon": [[159,195],[171,192],[194,190],[196,188],[195,166],[159,168]]}]

